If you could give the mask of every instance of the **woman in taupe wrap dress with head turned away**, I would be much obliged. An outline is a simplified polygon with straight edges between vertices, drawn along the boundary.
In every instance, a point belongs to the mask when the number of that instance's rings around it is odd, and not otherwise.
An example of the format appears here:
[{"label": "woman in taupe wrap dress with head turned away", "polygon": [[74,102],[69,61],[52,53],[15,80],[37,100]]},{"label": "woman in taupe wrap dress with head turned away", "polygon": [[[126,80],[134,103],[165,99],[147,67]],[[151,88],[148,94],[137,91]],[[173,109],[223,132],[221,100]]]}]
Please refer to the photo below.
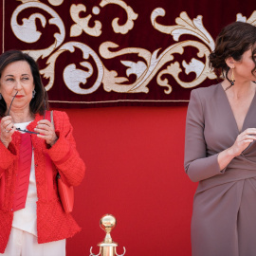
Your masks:
[{"label": "woman in taupe wrap dress with head turned away", "polygon": [[224,27],[210,66],[224,80],[192,90],[186,122],[192,256],[255,256],[256,27]]}]

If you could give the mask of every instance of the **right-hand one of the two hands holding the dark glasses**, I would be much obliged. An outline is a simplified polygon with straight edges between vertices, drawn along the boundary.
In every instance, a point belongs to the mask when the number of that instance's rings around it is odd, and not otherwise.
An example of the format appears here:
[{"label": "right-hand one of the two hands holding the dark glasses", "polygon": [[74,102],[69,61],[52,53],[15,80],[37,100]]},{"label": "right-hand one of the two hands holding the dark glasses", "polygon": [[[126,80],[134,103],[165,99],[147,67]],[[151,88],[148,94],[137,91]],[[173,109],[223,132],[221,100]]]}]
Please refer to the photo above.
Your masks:
[{"label": "right-hand one of the two hands holding the dark glasses", "polygon": [[53,146],[58,139],[53,124],[47,119],[38,121],[35,132],[39,133],[37,137],[46,139],[46,143],[50,146]]}]

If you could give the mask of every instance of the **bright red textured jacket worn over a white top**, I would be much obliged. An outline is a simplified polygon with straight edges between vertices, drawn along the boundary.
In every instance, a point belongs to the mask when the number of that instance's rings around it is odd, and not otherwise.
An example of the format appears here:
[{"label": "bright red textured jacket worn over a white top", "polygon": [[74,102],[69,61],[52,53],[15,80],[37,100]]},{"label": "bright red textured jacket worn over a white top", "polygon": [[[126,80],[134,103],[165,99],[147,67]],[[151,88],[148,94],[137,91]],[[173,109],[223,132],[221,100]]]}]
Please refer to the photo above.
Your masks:
[{"label": "bright red textured jacket worn over a white top", "polygon": [[[34,131],[37,122],[43,119],[36,115],[27,126]],[[64,174],[67,182],[78,186],[82,182],[85,166],[76,150],[72,135],[73,128],[64,112],[54,111],[55,131],[59,139],[48,148],[46,141],[36,135],[31,135],[37,186],[37,232],[38,243],[62,240],[73,236],[81,230],[70,213],[65,213],[61,205],[56,183],[57,169]],[[15,191],[15,176],[19,157],[21,134],[15,132],[7,149],[0,142],[0,253],[4,253],[9,240],[13,212],[13,192]],[[46,174],[46,155],[52,160],[53,172]]]}]

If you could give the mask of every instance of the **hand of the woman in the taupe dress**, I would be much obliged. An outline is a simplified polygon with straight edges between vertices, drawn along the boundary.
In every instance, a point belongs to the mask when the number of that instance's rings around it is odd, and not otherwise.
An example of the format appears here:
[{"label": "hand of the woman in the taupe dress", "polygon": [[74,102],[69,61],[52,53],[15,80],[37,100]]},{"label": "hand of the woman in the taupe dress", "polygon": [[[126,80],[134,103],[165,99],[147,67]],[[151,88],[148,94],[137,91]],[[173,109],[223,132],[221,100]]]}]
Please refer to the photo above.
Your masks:
[{"label": "hand of the woman in the taupe dress", "polygon": [[241,133],[234,144],[229,148],[229,152],[234,157],[241,155],[241,153],[247,148],[247,146],[256,140],[256,128],[248,128],[246,131]]}]

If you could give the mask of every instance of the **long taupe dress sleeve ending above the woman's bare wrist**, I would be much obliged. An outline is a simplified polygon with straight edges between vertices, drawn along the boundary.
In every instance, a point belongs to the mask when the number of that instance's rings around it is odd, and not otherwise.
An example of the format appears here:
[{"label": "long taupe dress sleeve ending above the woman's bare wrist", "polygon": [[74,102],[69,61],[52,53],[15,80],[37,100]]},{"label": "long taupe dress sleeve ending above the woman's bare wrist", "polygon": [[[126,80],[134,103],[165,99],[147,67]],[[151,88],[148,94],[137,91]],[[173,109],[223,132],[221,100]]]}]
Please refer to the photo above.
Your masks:
[{"label": "long taupe dress sleeve ending above the woman's bare wrist", "polygon": [[218,154],[207,156],[204,129],[203,105],[198,91],[192,90],[186,119],[184,167],[193,182],[223,174],[218,164]]}]

